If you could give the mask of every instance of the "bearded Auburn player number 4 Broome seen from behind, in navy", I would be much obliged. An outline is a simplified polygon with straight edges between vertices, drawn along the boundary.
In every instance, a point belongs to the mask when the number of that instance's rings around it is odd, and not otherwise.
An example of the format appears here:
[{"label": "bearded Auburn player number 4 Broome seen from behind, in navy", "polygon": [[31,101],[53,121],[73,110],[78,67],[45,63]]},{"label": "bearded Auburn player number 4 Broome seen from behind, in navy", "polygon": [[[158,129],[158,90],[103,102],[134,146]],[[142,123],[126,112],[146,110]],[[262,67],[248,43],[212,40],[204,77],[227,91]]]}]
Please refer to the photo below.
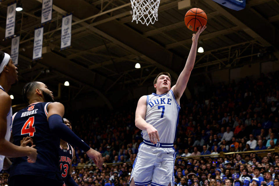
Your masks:
[{"label": "bearded Auburn player number 4 Broome seen from behind, in navy", "polygon": [[44,83],[27,83],[22,91],[29,106],[12,117],[14,144],[31,137],[37,149],[36,163],[26,163],[26,157],[15,158],[10,168],[10,185],[62,186],[59,167],[60,139],[78,146],[92,158],[99,169],[103,164],[101,153],[90,148],[63,124],[64,106],[54,102],[52,92]]}]

